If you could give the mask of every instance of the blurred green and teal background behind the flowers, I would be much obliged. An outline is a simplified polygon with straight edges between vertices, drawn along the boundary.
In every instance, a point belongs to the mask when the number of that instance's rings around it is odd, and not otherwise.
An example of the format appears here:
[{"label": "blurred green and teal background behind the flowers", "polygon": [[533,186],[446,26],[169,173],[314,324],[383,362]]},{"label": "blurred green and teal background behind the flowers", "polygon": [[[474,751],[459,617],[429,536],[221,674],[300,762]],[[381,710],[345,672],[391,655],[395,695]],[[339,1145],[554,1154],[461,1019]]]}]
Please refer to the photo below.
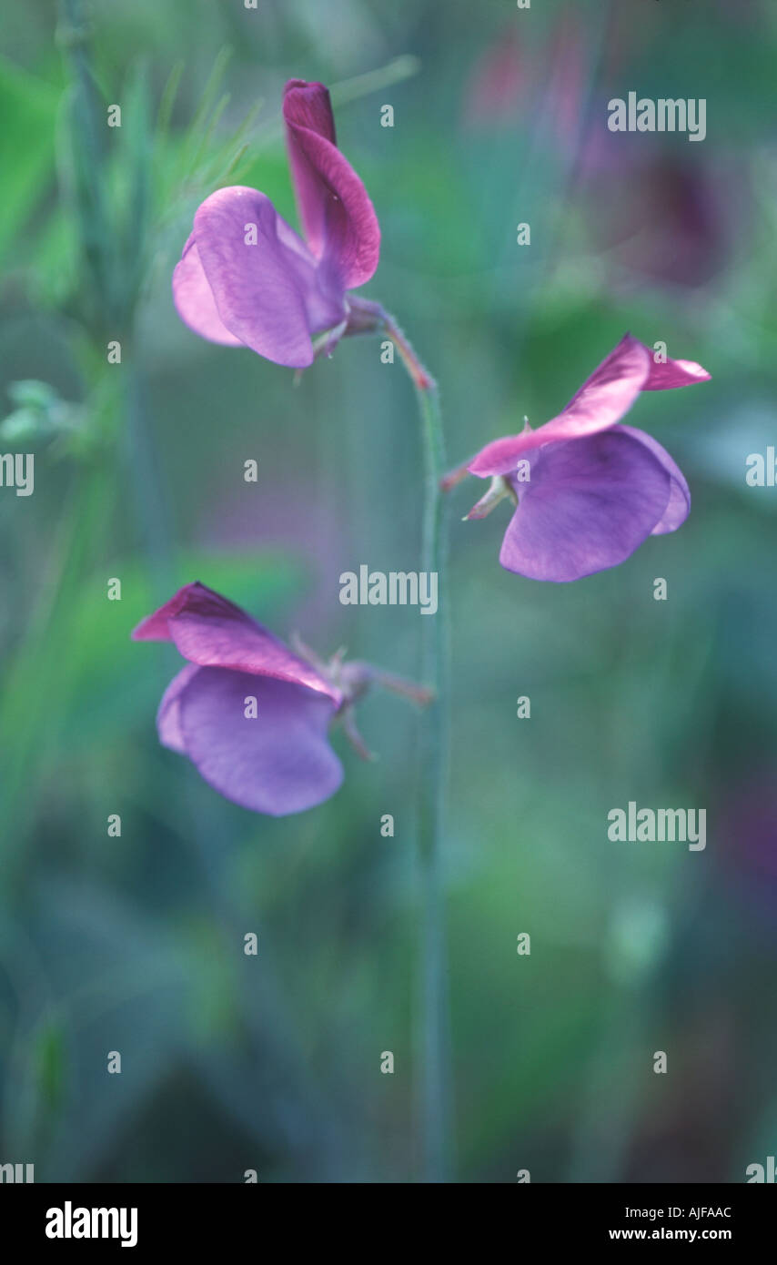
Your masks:
[{"label": "blurred green and teal background behind the flowers", "polygon": [[[401,366],[348,339],[295,387],[170,296],[220,183],[296,224],[280,101],[302,77],[333,89],[382,226],[364,292],[438,377],[451,464],[553,416],[629,329],[712,374],[628,419],[693,507],[614,571],[509,574],[505,507],[464,524],[482,484],[453,493],[452,1165],[745,1180],[777,1144],[777,490],[745,483],[777,436],[774,6],[29,0],[1,33],[0,452],[35,453],[35,491],[0,491],[0,1163],[419,1175],[414,713],[371,697],[380,759],[335,736],[330,802],[252,816],[158,745],[178,659],[129,640],[199,578],[282,636],[416,673],[418,610],[338,601],[342,571],[419,565]],[[705,97],[704,143],[610,135],[630,90]],[[610,842],[630,799],[705,807],[706,850]]]}]

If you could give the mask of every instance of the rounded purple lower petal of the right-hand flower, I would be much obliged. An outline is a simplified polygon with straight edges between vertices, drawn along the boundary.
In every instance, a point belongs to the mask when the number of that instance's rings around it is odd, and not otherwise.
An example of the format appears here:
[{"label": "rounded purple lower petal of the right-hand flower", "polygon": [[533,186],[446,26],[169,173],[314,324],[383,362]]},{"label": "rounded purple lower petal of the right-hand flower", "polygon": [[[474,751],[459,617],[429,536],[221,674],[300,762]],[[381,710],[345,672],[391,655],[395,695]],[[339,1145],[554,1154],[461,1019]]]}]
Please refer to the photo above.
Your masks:
[{"label": "rounded purple lower petal of the right-hand flower", "polygon": [[648,445],[625,430],[552,444],[531,457],[530,481],[499,560],[529,579],[557,583],[616,567],[661,522],[672,479]]}]

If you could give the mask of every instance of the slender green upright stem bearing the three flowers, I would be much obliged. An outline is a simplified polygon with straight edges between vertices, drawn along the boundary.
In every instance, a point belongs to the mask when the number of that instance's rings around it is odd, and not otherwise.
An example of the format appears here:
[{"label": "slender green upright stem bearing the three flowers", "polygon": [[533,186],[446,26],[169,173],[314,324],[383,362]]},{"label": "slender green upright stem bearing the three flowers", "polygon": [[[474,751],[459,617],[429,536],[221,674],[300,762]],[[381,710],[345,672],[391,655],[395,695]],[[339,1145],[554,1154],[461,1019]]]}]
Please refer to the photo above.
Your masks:
[{"label": "slender green upright stem bearing the three flowers", "polygon": [[438,610],[421,619],[420,679],[434,701],[420,721],[418,841],[423,883],[421,1082],[423,1174],[425,1182],[445,1182],[451,1171],[451,1065],[448,1041],[448,979],[442,883],[448,706],[448,603],[444,583],[445,498],[440,478],[445,468],[439,391],[396,321],[381,312],[382,326],[407,369],[419,404],[424,453],[424,511],[421,571],[437,573]]}]

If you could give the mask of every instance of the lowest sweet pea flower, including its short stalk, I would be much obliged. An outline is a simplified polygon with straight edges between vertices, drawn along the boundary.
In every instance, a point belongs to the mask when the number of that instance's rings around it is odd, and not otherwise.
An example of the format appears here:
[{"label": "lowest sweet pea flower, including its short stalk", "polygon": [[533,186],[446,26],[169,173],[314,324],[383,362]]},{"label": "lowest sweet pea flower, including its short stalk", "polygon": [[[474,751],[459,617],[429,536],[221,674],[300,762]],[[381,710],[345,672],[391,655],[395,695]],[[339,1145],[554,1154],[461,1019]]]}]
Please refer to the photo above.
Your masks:
[{"label": "lowest sweet pea flower, including its short stalk", "polygon": [[199,582],[180,588],[132,636],[173,641],[189,659],[159,703],[163,746],[187,755],[227,799],[272,817],[313,808],[339,788],[343,765],[328,740],[335,715],[368,755],[352,706],[371,683],[430,701],[428,691],[368,664],[343,664],[340,655],[324,664],[305,648],[294,654]]}]

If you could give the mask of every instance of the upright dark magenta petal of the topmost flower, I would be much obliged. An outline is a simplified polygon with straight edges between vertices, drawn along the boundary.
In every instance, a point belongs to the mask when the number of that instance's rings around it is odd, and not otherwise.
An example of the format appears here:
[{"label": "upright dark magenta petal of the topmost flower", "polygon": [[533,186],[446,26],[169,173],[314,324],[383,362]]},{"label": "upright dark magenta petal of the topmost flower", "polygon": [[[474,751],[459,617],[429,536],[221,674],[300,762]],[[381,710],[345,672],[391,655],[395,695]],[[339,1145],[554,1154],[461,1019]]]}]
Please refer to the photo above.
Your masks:
[{"label": "upright dark magenta petal of the topmost flower", "polygon": [[308,245],[343,290],[363,286],[377,268],[381,230],[367,190],[337,148],[328,90],[290,80],[283,119]]}]

